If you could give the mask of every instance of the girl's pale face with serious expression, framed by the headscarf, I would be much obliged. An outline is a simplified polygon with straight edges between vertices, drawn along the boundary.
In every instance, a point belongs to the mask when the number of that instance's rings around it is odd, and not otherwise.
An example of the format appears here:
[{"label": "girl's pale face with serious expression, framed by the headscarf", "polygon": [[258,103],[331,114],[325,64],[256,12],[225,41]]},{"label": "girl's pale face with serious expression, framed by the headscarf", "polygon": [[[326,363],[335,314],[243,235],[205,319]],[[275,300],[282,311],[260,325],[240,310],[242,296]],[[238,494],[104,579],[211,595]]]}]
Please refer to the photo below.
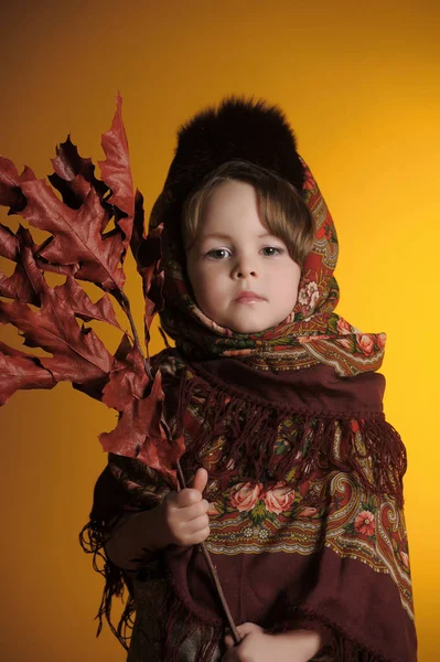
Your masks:
[{"label": "girl's pale face with serious expression, framed by the headscarf", "polygon": [[301,269],[261,224],[255,189],[246,182],[213,190],[186,265],[198,308],[232,331],[265,331],[297,302]]}]

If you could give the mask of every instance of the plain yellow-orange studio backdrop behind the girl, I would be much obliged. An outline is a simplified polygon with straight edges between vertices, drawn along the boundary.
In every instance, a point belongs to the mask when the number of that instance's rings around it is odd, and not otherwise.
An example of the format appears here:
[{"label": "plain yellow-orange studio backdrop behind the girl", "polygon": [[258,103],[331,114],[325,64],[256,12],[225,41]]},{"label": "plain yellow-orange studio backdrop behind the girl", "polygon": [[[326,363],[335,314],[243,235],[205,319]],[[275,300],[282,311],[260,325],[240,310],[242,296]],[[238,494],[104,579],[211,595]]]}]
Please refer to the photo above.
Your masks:
[{"label": "plain yellow-orange studio backdrop behind the girl", "polygon": [[[388,333],[386,410],[408,449],[419,660],[437,661],[438,3],[8,4],[0,14],[0,152],[40,177],[51,172],[54,146],[68,131],[83,156],[103,157],[99,137],[118,89],[147,211],[162,186],[175,129],[194,111],[229,93],[286,110],[336,223],[339,312],[365,331]],[[4,210],[0,216],[17,226]],[[128,271],[141,325],[131,261]],[[18,342],[10,328],[1,338]],[[117,338],[107,339],[112,349]],[[0,656],[7,662],[125,660],[107,629],[95,639],[103,585],[77,543],[105,465],[97,435],[115,424],[115,412],[66,384],[20,392],[0,412]]]}]

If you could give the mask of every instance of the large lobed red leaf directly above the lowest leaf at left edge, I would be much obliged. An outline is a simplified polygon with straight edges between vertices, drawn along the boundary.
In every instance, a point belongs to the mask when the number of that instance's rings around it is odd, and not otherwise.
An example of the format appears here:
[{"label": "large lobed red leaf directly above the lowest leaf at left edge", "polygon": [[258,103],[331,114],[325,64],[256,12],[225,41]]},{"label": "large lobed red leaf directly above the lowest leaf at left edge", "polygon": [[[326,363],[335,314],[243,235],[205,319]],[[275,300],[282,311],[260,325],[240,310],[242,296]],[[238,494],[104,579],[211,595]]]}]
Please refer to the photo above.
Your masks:
[{"label": "large lobed red leaf directly above the lowest leaf at left edge", "polygon": [[[0,323],[14,324],[24,335],[24,344],[39,346],[53,354],[40,357],[43,367],[51,371],[56,382],[69,381],[93,384],[111,370],[114,357],[93,329],[79,328],[71,276],[64,285],[49,287],[39,270],[29,246],[23,245],[23,267],[40,298],[41,308],[34,311],[25,302],[0,301]],[[84,300],[77,302],[84,311]],[[92,303],[92,302],[90,302]]]}]

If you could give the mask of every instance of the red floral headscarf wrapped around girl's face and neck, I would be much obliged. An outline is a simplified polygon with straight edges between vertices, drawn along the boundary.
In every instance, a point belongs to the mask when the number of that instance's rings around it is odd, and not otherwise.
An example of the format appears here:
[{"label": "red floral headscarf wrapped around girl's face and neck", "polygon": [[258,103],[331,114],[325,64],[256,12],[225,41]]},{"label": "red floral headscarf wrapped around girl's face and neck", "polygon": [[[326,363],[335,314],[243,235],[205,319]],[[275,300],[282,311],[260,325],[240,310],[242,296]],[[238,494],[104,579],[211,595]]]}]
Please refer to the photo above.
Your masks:
[{"label": "red floral headscarf wrapped around girl's face and neck", "polygon": [[[207,318],[194,301],[189,284],[175,205],[164,192],[154,205],[150,228],[164,223],[164,309],[161,322],[183,355],[192,359],[236,356],[258,370],[332,365],[341,376],[376,371],[382,364],[385,333],[362,333],[333,311],[339,286],[333,276],[337,236],[332,216],[312,173],[304,169],[301,190],[315,227],[312,249],[302,268],[298,300],[280,324],[258,333],[237,333]],[[178,215],[178,217],[176,217]]]}]

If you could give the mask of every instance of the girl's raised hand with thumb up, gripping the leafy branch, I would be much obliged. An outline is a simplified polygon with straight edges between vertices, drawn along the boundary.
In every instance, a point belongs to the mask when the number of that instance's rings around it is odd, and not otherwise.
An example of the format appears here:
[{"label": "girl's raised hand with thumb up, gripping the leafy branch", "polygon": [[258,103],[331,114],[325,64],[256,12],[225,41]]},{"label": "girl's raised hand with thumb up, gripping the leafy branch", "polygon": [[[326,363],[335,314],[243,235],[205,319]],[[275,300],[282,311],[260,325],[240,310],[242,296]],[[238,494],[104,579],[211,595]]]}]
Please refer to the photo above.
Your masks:
[{"label": "girl's raised hand with thumb up, gripping the leafy branch", "polygon": [[197,545],[210,535],[208,502],[202,492],[207,483],[206,469],[197,469],[192,488],[170,492],[151,512],[151,551],[168,545]]}]

